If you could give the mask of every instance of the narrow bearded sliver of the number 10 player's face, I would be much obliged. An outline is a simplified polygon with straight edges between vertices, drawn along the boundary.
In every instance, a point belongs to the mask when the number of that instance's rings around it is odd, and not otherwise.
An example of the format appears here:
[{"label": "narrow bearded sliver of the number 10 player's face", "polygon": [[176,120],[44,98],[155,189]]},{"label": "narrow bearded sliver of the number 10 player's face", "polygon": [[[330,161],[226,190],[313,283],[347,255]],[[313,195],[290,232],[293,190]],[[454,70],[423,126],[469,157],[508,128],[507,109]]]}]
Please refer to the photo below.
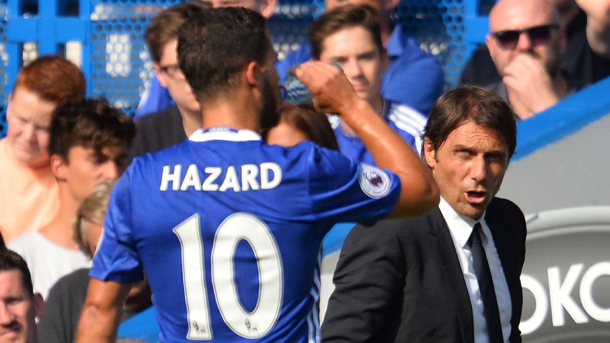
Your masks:
[{"label": "narrow bearded sliver of the number 10 player's face", "polygon": [[[270,44],[271,46],[271,44]],[[262,66],[264,84],[262,87],[262,113],[260,114],[260,128],[272,128],[278,124],[278,107],[282,99],[279,96],[279,75],[275,68],[276,52],[270,48],[267,52],[267,60]]]}]

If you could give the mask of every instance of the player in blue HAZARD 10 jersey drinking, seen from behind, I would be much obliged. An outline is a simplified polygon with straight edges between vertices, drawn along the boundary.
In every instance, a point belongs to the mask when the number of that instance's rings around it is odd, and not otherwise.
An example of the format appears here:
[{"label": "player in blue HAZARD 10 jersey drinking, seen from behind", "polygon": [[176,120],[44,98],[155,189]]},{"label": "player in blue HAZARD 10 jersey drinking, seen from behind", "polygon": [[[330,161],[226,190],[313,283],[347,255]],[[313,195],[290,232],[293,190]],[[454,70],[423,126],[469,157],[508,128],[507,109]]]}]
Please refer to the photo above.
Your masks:
[{"label": "player in blue HAZARD 10 jersey drinking, seen from behind", "polygon": [[203,128],[136,157],[110,197],[77,342],[111,342],[129,284],[146,270],[163,342],[316,342],[320,243],[336,222],[422,214],[439,201],[417,154],[337,68],[296,76],[315,105],[354,126],[381,168],[302,142],[269,146],[275,52],[262,16],[204,10],[181,27],[181,70]]}]

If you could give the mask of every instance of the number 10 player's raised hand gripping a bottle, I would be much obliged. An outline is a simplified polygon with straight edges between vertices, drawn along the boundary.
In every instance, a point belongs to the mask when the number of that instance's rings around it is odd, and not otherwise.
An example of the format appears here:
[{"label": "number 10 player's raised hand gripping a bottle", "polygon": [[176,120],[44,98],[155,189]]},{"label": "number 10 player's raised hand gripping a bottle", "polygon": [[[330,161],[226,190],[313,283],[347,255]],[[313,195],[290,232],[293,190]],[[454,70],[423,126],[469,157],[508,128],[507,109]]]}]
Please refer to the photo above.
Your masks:
[{"label": "number 10 player's raised hand gripping a bottle", "polygon": [[342,115],[349,113],[360,99],[343,72],[328,63],[309,61],[299,65],[295,76],[314,96],[320,112]]}]

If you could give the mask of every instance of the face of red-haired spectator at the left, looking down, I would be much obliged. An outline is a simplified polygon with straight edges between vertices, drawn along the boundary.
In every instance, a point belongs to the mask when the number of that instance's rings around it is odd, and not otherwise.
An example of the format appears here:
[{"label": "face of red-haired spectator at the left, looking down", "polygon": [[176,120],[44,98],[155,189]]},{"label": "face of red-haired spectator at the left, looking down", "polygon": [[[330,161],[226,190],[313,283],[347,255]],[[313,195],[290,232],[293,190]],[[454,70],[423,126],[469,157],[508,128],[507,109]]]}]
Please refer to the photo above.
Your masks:
[{"label": "face of red-haired spectator at the left, looking down", "polygon": [[9,97],[6,139],[17,161],[30,168],[49,164],[49,126],[56,106],[24,87],[17,87]]}]

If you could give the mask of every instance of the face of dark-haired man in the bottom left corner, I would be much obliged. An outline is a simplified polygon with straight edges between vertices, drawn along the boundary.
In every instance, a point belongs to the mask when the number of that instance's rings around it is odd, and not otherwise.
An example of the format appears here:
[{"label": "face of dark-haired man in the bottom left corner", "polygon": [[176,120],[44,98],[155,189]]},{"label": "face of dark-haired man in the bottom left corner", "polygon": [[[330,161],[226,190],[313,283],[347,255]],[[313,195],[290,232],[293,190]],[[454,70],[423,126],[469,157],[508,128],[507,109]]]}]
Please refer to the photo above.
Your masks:
[{"label": "face of dark-haired man in the bottom left corner", "polygon": [[42,311],[40,294],[30,297],[21,270],[0,272],[0,343],[36,342],[36,316]]}]

